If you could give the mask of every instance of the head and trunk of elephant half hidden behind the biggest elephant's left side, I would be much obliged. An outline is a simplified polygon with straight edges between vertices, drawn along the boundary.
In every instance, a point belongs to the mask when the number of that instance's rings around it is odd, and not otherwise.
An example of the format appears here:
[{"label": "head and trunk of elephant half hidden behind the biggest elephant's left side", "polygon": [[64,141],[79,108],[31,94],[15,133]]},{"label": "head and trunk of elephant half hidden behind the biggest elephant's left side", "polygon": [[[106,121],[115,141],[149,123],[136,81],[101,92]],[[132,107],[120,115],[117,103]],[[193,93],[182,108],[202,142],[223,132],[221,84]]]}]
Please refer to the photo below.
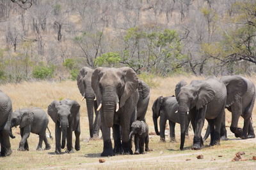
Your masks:
[{"label": "head and trunk of elephant half hidden behind the biggest elephant's left side", "polygon": [[[90,136],[93,137],[93,108],[94,108],[94,99],[95,94],[92,89],[92,73],[94,69],[89,67],[83,67],[77,76],[77,87],[83,96],[83,99],[86,99],[86,108],[88,113],[89,127],[90,127]],[[82,99],[82,100],[83,100]]]}]

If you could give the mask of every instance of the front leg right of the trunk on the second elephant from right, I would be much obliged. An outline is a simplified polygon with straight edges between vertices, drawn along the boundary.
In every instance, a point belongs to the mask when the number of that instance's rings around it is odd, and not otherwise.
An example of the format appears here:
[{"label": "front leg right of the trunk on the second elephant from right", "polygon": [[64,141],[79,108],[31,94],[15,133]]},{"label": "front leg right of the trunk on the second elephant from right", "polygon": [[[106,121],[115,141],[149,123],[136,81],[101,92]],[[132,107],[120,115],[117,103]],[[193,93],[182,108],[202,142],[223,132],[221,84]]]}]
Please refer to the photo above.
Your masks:
[{"label": "front leg right of the trunk on the second elephant from right", "polygon": [[193,150],[200,150],[201,146],[204,145],[204,141],[201,136],[202,128],[204,127],[205,120],[205,111],[207,106],[198,110],[198,113],[195,116],[195,135],[193,139]]}]

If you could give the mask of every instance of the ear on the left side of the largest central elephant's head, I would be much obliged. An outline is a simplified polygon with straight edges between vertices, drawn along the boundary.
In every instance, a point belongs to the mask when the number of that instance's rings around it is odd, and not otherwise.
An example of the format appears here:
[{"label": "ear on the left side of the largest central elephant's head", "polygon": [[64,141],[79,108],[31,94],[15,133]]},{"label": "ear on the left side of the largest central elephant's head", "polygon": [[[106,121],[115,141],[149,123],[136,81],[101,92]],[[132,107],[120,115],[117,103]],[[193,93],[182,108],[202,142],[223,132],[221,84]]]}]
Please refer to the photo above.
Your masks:
[{"label": "ear on the left side of the largest central elephant's head", "polygon": [[99,81],[100,81],[99,74],[100,74],[100,71],[102,71],[102,69],[104,68],[97,67],[97,69],[95,69],[92,73],[92,89],[96,95],[98,106],[102,101],[102,94],[100,92],[100,87],[99,87]]}]

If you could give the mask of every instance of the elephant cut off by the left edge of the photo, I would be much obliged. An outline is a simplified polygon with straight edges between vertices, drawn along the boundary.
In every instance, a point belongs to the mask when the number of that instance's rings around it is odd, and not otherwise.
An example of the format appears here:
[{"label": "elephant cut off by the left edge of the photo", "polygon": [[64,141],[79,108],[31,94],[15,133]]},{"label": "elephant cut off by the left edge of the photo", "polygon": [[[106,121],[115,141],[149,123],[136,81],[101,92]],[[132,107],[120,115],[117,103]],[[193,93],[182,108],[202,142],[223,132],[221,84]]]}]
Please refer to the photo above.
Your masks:
[{"label": "elephant cut off by the left edge of the photo", "polygon": [[0,144],[1,157],[6,157],[12,154],[10,143],[10,115],[12,114],[12,101],[4,92],[0,90]]}]

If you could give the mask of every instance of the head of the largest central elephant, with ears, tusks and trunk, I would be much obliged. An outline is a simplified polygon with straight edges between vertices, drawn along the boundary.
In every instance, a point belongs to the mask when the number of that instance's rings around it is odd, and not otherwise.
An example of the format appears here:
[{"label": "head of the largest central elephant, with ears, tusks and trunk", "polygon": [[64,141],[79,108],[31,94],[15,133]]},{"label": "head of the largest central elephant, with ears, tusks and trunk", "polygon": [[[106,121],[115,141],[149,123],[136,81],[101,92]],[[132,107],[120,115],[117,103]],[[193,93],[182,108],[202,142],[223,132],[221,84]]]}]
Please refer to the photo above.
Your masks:
[{"label": "head of the largest central elephant, with ears, tusks and trunk", "polygon": [[102,107],[104,122],[107,127],[112,127],[114,113],[122,109],[127,99],[138,89],[138,77],[129,67],[98,67],[92,74],[92,88],[97,97],[97,110]]}]

